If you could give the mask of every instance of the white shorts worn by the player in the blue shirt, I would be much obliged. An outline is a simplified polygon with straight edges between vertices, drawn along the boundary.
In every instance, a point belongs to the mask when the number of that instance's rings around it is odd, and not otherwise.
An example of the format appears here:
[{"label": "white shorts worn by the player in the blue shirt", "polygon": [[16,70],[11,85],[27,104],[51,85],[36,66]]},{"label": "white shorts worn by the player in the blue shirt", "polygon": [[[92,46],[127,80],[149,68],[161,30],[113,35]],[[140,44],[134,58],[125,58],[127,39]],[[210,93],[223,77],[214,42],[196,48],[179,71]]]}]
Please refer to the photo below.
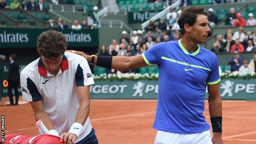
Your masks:
[{"label": "white shorts worn by the player in the blue shirt", "polygon": [[213,144],[210,131],[196,134],[177,134],[158,130],[155,144]]}]

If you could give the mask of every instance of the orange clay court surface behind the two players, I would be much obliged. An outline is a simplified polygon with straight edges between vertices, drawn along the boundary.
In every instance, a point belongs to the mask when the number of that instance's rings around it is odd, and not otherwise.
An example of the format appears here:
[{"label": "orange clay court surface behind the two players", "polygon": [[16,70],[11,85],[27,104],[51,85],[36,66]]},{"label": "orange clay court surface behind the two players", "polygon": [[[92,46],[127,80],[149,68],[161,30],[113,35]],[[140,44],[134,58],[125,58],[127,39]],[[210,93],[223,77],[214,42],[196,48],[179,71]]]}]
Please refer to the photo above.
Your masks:
[{"label": "orange clay court surface behind the two players", "polygon": [[[156,100],[91,100],[90,119],[100,144],[153,144]],[[208,102],[204,115],[210,123]],[[256,101],[222,101],[224,144],[256,144]],[[38,135],[29,103],[0,106],[5,135]]]}]

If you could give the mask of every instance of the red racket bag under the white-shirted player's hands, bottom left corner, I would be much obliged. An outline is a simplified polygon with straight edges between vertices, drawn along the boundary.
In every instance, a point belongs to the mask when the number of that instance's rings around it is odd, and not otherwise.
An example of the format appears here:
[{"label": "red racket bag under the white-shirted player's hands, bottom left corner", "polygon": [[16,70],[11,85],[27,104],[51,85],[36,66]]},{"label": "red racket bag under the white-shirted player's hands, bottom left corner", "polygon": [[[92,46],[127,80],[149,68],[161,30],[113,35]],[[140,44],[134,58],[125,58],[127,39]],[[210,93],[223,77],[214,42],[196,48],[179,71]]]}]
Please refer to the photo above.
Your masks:
[{"label": "red racket bag under the white-shirted player's hands, bottom left corner", "polygon": [[63,144],[55,135],[6,135],[5,142],[0,144]]}]

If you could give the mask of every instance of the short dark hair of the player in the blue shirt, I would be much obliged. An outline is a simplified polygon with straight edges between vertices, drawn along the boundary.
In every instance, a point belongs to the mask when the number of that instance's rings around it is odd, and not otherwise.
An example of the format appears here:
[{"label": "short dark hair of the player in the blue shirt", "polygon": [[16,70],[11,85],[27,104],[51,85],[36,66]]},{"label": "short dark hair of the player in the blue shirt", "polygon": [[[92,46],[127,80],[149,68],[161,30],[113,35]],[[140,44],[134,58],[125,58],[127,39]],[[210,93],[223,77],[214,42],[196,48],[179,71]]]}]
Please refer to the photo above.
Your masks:
[{"label": "short dark hair of the player in the blue shirt", "polygon": [[181,35],[185,33],[184,25],[187,23],[188,25],[193,26],[199,14],[207,16],[207,12],[203,9],[203,7],[186,7],[182,11],[181,17],[178,19],[178,25],[181,29]]}]

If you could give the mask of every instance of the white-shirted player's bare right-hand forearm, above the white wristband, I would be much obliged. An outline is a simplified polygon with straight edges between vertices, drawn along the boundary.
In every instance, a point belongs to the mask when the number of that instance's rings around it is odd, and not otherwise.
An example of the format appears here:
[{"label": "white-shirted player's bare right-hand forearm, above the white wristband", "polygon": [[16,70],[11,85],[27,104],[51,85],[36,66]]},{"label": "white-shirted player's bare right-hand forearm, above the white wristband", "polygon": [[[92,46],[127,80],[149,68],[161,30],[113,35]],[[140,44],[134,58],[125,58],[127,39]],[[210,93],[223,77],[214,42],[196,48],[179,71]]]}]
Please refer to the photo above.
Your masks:
[{"label": "white-shirted player's bare right-hand forearm, above the white wristband", "polygon": [[78,107],[78,112],[75,116],[75,122],[82,125],[85,124],[90,112],[90,101],[80,103]]}]

